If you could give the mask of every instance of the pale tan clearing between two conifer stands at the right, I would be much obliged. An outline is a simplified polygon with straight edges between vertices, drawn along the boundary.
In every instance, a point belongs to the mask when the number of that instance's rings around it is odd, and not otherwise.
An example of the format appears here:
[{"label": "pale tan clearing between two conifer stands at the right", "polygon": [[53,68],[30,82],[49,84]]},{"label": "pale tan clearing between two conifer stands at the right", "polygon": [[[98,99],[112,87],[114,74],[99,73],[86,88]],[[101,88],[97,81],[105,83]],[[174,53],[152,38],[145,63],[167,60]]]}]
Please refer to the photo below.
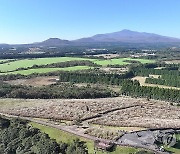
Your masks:
[{"label": "pale tan clearing between two conifer stands at the right", "polygon": [[[159,75],[150,75],[150,76],[153,76],[154,78],[158,78]],[[177,87],[169,87],[169,86],[164,86],[164,85],[145,83],[146,78],[147,77],[136,76],[136,77],[132,78],[132,80],[138,80],[141,86],[150,86],[150,87],[159,87],[159,88],[180,90],[180,88],[177,88]]]}]

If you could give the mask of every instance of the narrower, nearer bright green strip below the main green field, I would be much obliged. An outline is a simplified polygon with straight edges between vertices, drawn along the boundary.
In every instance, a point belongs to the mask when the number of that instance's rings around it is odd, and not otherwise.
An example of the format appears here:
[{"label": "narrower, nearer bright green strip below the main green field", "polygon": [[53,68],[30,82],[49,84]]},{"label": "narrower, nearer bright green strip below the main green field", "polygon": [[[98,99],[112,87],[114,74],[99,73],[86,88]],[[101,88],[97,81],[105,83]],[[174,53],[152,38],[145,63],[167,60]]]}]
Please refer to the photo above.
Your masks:
[{"label": "narrower, nearer bright green strip below the main green field", "polygon": [[33,73],[49,73],[49,72],[55,72],[55,71],[77,71],[77,70],[85,70],[85,69],[90,69],[90,68],[92,67],[74,66],[74,67],[65,67],[65,68],[37,68],[37,69],[14,71],[14,72],[9,72],[9,73],[0,73],[0,75],[7,75],[7,74],[29,75]]}]

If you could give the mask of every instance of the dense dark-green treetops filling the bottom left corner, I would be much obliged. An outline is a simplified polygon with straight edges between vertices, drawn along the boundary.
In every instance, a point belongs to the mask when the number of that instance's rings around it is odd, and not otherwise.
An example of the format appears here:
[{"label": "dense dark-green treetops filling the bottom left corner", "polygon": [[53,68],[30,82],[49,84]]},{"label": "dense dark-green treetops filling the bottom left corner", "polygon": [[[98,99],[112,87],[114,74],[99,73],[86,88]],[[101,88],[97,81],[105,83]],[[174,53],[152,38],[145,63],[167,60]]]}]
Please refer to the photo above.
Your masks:
[{"label": "dense dark-green treetops filling the bottom left corner", "polygon": [[8,120],[9,125],[0,128],[0,153],[2,154],[88,154],[84,142],[74,140],[70,144],[57,143],[47,134],[27,125],[22,120]]}]

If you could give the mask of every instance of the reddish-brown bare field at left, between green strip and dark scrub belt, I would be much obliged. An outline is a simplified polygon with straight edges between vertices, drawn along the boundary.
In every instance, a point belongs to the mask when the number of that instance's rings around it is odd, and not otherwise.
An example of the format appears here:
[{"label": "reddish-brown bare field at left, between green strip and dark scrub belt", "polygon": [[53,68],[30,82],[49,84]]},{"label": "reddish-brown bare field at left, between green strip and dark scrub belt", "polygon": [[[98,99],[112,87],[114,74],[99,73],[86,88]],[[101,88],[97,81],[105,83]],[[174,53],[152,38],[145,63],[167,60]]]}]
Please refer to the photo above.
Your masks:
[{"label": "reddish-brown bare field at left, between green strip and dark scrub belt", "polygon": [[17,79],[5,81],[11,85],[26,85],[26,86],[47,86],[56,83],[58,76],[51,77],[36,77],[31,79]]}]

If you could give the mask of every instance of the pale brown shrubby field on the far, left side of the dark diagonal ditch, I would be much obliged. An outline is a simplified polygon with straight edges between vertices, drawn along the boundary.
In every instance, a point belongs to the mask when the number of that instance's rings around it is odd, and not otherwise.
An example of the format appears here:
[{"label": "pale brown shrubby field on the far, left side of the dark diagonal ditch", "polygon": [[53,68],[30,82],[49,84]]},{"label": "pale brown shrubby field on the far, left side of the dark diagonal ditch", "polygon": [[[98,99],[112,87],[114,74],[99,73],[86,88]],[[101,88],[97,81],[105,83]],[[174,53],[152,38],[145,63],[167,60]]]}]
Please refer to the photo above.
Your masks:
[{"label": "pale brown shrubby field on the far, left side of the dark diagonal ditch", "polygon": [[[129,99],[128,99],[129,100]],[[118,107],[139,104],[138,100],[127,98],[103,99],[0,99],[0,112],[15,115],[75,120],[88,118]]]}]

